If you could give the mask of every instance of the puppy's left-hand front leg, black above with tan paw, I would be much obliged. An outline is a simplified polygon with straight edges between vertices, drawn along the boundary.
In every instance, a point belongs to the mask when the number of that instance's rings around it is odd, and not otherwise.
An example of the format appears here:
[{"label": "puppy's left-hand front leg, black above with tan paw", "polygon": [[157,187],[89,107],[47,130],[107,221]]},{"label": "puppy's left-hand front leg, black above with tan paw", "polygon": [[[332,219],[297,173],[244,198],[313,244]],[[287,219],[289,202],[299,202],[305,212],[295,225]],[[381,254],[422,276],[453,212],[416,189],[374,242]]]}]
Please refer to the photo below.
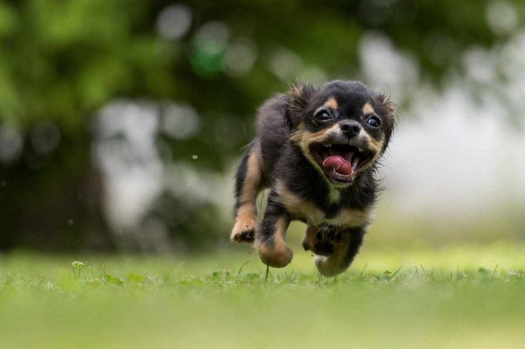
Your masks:
[{"label": "puppy's left-hand front leg, black above with tan paw", "polygon": [[290,222],[289,214],[280,203],[268,199],[265,215],[257,231],[255,246],[262,263],[273,268],[282,268],[292,261],[292,250],[284,242]]}]

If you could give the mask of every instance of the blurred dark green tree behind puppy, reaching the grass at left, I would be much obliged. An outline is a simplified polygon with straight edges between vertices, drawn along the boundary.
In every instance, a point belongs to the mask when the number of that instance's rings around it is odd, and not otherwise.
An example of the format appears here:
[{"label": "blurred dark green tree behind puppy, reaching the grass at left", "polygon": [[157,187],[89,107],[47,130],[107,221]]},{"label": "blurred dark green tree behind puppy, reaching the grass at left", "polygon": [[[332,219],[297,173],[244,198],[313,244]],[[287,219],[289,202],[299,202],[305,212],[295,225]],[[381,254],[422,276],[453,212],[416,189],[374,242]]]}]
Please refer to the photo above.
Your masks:
[{"label": "blurred dark green tree behind puppy, reaching the grass at left", "polygon": [[[0,248],[114,246],[90,155],[92,117],[114,98],[193,105],[199,133],[163,142],[175,159],[199,154],[203,171],[223,170],[270,93],[296,79],[358,78],[363,33],[381,33],[438,83],[465,47],[509,35],[487,25],[487,4],[0,2],[0,148],[14,149],[0,164]],[[521,23],[525,4],[512,4]]]}]

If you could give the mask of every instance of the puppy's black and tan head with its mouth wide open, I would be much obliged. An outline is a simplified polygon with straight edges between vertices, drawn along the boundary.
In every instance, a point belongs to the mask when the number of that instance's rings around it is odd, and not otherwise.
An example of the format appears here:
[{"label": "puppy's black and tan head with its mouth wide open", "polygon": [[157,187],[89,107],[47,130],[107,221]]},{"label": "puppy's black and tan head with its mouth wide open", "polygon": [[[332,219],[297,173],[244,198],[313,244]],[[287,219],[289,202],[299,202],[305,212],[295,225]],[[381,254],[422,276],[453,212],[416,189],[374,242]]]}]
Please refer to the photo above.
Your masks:
[{"label": "puppy's black and tan head with its mouth wide open", "polygon": [[294,86],[286,98],[290,140],[335,186],[351,185],[388,146],[392,103],[360,82]]}]

